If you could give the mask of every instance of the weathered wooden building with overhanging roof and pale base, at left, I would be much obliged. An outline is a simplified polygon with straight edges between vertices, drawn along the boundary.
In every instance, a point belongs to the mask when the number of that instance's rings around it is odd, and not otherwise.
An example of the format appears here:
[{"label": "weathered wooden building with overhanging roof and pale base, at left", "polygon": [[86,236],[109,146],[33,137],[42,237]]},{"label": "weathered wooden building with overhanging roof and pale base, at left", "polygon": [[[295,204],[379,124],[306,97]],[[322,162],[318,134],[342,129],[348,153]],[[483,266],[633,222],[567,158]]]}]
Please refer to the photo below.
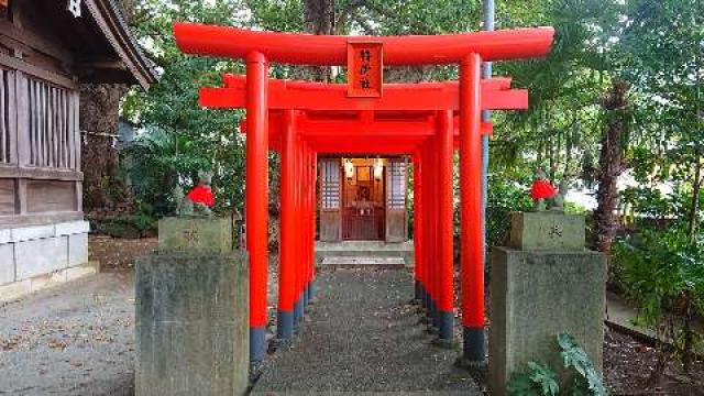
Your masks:
[{"label": "weathered wooden building with overhanging roof and pale base, at left", "polygon": [[0,300],[91,271],[80,85],[154,80],[112,0],[0,0]]}]

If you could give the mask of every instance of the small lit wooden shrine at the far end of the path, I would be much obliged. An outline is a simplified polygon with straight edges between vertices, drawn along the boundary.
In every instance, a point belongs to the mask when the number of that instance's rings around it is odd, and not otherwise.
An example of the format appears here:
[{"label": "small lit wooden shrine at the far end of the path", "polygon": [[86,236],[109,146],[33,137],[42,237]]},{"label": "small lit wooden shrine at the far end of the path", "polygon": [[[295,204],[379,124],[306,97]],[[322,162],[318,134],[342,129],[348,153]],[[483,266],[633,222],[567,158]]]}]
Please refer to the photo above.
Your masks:
[{"label": "small lit wooden shrine at the far end of the path", "polygon": [[407,158],[322,157],[322,242],[408,240]]}]

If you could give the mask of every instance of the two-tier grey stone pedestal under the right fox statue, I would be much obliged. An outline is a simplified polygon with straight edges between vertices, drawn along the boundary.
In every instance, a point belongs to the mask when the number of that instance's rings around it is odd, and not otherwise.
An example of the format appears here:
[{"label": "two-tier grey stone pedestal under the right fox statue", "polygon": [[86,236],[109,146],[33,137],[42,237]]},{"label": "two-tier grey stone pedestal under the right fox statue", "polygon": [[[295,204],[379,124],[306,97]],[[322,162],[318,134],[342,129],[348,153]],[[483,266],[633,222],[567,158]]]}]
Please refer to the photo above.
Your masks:
[{"label": "two-tier grey stone pedestal under the right fox statue", "polygon": [[[530,361],[549,363],[563,384],[571,382],[560,371],[561,332],[576,339],[600,372],[603,361],[606,256],[584,249],[584,219],[521,213],[513,220],[512,240],[535,249],[492,252],[488,382],[499,396]],[[538,241],[551,232],[554,238]]]}]

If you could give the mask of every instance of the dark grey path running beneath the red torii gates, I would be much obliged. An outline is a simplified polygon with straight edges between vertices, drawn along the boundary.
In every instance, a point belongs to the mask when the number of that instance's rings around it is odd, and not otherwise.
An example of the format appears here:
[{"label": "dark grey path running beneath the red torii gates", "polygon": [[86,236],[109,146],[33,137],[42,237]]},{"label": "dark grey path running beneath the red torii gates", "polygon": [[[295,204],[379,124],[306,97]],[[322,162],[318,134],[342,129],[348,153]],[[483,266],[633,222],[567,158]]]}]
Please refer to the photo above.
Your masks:
[{"label": "dark grey path running beneath the red torii gates", "polygon": [[341,270],[317,279],[317,301],[293,346],[263,367],[253,395],[479,394],[458,350],[416,324],[406,271]]}]

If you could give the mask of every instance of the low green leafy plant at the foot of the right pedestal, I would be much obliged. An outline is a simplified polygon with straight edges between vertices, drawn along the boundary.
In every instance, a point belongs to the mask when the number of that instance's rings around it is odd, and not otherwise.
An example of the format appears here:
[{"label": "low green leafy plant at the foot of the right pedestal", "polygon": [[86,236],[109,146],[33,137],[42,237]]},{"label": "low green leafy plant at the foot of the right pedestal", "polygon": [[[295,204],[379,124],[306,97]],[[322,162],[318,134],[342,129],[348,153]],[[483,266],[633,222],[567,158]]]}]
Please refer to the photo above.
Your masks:
[{"label": "low green leafy plant at the foot of the right pedestal", "polygon": [[528,362],[528,371],[515,373],[508,383],[508,394],[514,396],[596,395],[607,396],[604,380],[594,369],[586,352],[568,333],[557,337],[564,369],[575,374],[568,392],[560,391],[558,375],[544,362]]}]

